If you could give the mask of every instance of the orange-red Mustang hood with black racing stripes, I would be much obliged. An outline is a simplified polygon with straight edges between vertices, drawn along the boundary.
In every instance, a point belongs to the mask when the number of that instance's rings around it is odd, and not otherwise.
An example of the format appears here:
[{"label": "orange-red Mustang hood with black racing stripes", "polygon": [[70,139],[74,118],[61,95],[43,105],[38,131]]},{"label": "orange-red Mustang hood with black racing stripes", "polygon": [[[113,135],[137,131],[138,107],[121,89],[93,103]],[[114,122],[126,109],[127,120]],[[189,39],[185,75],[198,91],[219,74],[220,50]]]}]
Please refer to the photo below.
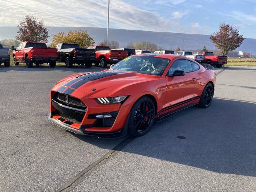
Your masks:
[{"label": "orange-red Mustang hood with black racing stripes", "polygon": [[140,82],[150,82],[156,76],[140,74],[136,72],[104,70],[74,74],[60,80],[56,86],[69,87],[92,97],[121,96],[128,86]]}]

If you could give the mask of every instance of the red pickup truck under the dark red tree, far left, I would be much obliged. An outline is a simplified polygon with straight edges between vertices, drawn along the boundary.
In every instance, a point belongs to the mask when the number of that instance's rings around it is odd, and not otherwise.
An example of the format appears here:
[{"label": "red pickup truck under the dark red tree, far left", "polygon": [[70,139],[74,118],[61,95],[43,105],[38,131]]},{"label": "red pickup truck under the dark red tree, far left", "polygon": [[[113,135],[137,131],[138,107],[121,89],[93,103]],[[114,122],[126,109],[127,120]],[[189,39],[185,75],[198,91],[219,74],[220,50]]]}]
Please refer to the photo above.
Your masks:
[{"label": "red pickup truck under the dark red tree, far left", "polygon": [[22,42],[14,49],[12,57],[15,65],[25,62],[28,67],[32,67],[33,63],[36,66],[49,63],[50,67],[55,67],[58,54],[56,48],[48,48],[45,43]]}]

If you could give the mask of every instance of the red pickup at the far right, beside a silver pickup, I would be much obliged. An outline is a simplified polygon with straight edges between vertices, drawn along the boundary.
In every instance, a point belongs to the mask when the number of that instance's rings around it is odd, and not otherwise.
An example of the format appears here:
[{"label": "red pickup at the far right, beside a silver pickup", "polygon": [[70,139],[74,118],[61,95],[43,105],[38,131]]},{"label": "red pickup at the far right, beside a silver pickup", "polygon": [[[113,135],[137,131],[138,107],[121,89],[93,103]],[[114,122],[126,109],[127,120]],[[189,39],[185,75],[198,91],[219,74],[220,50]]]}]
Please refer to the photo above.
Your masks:
[{"label": "red pickup at the far right, beside a silver pickup", "polygon": [[210,65],[216,65],[216,67],[220,68],[224,64],[227,64],[228,57],[227,56],[217,56],[214,55],[213,52],[194,52],[193,55],[204,55],[204,62]]}]

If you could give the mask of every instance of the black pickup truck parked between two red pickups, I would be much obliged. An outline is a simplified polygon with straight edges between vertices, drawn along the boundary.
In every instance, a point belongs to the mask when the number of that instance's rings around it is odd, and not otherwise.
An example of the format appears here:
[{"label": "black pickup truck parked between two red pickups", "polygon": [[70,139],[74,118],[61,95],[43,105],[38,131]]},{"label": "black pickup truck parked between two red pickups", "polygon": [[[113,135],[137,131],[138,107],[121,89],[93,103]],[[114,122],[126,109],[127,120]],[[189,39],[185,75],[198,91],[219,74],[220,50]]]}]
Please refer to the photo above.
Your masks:
[{"label": "black pickup truck parked between two red pickups", "polygon": [[95,50],[80,48],[78,44],[59,43],[54,48],[57,49],[58,58],[56,62],[65,62],[67,67],[73,64],[91,67],[95,61]]}]

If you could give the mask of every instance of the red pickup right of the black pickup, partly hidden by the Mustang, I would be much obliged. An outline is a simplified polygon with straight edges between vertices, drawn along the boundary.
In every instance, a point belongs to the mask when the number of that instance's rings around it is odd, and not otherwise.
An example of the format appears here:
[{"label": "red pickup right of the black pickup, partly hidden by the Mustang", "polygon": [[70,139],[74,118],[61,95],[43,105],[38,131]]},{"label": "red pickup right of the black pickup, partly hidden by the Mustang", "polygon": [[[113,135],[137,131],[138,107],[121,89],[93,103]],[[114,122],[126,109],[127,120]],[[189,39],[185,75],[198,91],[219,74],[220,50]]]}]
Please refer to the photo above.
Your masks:
[{"label": "red pickup right of the black pickup, partly hidden by the Mustang", "polygon": [[128,57],[127,51],[110,50],[108,46],[97,45],[88,48],[95,50],[95,66],[98,66],[100,63],[100,65],[105,68],[108,64],[115,64]]}]

